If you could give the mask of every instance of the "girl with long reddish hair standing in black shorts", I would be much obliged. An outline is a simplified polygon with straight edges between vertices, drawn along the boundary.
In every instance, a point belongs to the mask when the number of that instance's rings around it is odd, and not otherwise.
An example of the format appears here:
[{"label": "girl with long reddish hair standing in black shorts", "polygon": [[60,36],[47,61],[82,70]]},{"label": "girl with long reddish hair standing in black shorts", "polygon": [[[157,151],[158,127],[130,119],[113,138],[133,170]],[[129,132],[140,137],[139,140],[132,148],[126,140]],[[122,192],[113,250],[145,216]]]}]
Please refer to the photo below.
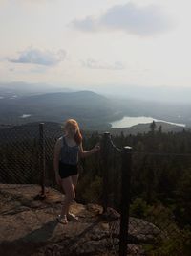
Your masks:
[{"label": "girl with long reddish hair standing in black shorts", "polygon": [[61,136],[55,143],[53,167],[56,182],[62,186],[65,192],[61,214],[58,215],[57,220],[67,224],[68,221],[78,221],[78,218],[69,212],[70,204],[75,198],[78,158],[87,157],[99,151],[100,147],[97,143],[91,151],[83,151],[82,135],[74,119],[68,119],[64,129],[65,135]]}]

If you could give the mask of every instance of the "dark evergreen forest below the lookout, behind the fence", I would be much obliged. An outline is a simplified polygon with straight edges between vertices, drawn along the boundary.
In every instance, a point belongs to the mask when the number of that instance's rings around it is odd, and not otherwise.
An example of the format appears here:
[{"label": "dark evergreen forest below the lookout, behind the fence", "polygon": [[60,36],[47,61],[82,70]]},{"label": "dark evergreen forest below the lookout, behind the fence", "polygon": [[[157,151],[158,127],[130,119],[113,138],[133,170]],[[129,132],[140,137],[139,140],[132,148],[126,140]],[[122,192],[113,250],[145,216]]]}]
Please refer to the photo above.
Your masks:
[{"label": "dark evergreen forest below the lookout, behind the fence", "polygon": [[[83,131],[83,148],[92,149],[102,135]],[[53,147],[56,137],[45,137],[46,186],[60,189],[54,179]],[[148,255],[190,255],[191,251],[191,132],[162,132],[151,124],[150,131],[136,135],[111,135],[122,149],[132,147],[130,216],[153,222],[172,238],[158,248],[148,246]],[[38,137],[5,140],[0,148],[1,183],[40,183]],[[121,156],[113,149],[108,155],[107,191],[109,206],[120,211]],[[102,151],[80,159],[76,200],[102,203],[104,159]],[[181,231],[181,233],[180,233]],[[181,251],[182,254],[179,254]],[[177,254],[176,254],[177,253]]]}]

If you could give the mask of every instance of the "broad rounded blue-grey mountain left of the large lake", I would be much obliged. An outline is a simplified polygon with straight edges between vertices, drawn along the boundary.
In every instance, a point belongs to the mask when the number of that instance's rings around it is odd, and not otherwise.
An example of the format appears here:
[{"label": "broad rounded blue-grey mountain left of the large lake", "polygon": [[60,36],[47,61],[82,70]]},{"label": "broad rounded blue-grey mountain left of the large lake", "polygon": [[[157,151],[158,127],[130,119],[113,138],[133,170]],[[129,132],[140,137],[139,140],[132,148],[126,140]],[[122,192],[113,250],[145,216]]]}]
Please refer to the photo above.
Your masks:
[{"label": "broad rounded blue-grey mountain left of the large lake", "polygon": [[[75,118],[82,127],[98,128],[108,127],[107,121],[115,120],[115,113],[108,98],[92,91],[54,92],[0,101],[0,123],[7,123],[8,115],[12,123]],[[23,114],[30,116],[21,119]]]}]

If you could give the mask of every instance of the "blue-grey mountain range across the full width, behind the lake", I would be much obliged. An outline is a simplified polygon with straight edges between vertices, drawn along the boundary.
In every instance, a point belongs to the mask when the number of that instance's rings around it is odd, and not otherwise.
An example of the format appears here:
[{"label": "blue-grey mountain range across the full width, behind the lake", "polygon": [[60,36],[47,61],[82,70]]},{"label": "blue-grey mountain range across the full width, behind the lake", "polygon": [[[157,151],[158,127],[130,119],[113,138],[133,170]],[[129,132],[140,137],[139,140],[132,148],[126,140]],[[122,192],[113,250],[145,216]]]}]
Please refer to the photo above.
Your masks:
[{"label": "blue-grey mountain range across the full width, behind the lake", "polygon": [[104,129],[111,128],[111,122],[124,116],[145,116],[191,127],[190,113],[191,104],[176,105],[109,98],[90,90],[56,91],[0,98],[0,124],[38,121],[60,123],[67,118],[74,118],[82,128]]}]

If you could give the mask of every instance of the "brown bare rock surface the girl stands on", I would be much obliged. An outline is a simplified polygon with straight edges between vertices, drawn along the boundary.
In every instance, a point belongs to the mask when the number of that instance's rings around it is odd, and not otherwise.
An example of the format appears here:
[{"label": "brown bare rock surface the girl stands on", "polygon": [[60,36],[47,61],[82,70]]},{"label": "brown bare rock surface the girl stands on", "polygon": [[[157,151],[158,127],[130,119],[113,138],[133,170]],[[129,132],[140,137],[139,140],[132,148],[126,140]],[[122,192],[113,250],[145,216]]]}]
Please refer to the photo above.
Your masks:
[{"label": "brown bare rock surface the girl stands on", "polygon": [[[115,210],[102,215],[100,205],[73,202],[71,212],[79,221],[63,225],[56,216],[64,196],[46,190],[44,200],[34,200],[37,185],[0,184],[0,255],[117,255],[120,216]],[[159,229],[151,223],[131,218],[132,255],[143,255],[138,242],[149,243],[156,234]]]}]

